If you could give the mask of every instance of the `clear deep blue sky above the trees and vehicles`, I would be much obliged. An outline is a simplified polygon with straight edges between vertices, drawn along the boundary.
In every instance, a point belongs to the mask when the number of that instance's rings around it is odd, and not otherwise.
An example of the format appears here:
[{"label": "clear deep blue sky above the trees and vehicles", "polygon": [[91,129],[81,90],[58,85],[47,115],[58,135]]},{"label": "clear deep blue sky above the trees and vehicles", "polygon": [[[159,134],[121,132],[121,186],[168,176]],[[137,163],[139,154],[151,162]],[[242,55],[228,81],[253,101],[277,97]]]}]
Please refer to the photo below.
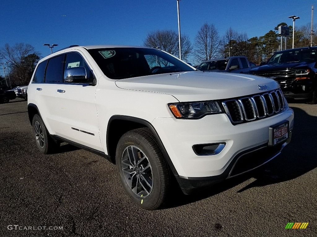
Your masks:
[{"label": "clear deep blue sky above the trees and vehicles", "polygon": [[[262,36],[278,23],[292,25],[290,15],[301,17],[295,28],[310,23],[312,4],[312,0],[181,0],[181,34],[193,43],[207,22],[220,36],[229,27],[249,38]],[[317,23],[316,10],[314,15]],[[50,53],[43,44],[58,44],[53,51],[74,44],[143,45],[151,31],[178,32],[177,0],[0,0],[0,16],[0,47],[29,43],[42,57]]]}]

